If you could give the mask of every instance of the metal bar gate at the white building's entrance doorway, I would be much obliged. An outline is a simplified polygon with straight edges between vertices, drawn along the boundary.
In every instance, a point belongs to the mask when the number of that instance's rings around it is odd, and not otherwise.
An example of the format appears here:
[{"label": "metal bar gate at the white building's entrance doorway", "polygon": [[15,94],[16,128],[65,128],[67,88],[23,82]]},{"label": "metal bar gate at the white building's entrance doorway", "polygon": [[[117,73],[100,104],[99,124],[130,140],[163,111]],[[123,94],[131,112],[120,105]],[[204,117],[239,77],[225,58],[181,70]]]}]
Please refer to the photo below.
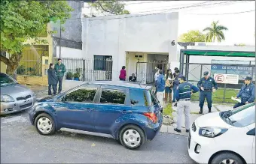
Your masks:
[{"label": "metal bar gate at the white building's entrance doorway", "polygon": [[166,73],[166,70],[168,69],[168,61],[138,61],[136,64],[137,82],[153,84],[156,68],[159,68],[160,70],[163,70],[163,73]]}]

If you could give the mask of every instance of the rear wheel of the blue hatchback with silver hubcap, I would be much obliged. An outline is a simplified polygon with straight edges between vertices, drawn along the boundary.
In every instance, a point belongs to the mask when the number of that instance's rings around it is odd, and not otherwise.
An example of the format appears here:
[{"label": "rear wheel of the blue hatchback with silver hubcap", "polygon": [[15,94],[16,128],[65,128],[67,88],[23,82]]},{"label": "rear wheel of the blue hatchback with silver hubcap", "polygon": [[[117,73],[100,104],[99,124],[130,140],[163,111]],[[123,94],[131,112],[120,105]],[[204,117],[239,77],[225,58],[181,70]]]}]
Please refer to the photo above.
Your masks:
[{"label": "rear wheel of the blue hatchback with silver hubcap", "polygon": [[144,144],[145,134],[135,125],[126,125],[120,130],[119,140],[125,148],[135,150]]}]

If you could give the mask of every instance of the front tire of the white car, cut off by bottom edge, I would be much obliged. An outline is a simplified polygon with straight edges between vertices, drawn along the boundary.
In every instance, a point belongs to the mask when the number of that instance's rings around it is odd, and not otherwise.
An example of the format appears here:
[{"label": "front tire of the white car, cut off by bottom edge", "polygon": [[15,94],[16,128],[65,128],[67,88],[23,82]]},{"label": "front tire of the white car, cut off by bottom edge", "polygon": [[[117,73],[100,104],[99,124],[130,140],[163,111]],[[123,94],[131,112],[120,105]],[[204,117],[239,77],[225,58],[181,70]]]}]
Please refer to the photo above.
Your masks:
[{"label": "front tire of the white car, cut off by bottom edge", "polygon": [[219,164],[221,162],[225,162],[225,160],[230,160],[231,163],[236,162],[234,164],[242,164],[243,161],[240,157],[238,157],[236,154],[233,153],[221,153],[216,155],[213,159],[212,159],[212,164]]}]

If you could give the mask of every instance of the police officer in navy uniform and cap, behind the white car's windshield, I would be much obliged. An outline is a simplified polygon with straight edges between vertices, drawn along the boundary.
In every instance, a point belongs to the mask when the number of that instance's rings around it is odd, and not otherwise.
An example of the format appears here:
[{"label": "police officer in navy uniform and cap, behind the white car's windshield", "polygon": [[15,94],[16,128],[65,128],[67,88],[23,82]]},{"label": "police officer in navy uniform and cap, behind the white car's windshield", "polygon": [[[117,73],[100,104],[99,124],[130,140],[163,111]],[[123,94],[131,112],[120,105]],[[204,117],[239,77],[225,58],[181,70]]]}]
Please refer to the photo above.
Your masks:
[{"label": "police officer in navy uniform and cap, behind the white car's windshield", "polygon": [[247,103],[252,103],[255,100],[255,85],[252,84],[252,78],[247,76],[245,78],[245,84],[242,85],[241,90],[239,91],[239,93],[236,95],[236,99],[237,98],[241,98],[241,103],[236,103],[235,106],[233,106],[233,108],[237,108],[239,106],[243,106]]}]

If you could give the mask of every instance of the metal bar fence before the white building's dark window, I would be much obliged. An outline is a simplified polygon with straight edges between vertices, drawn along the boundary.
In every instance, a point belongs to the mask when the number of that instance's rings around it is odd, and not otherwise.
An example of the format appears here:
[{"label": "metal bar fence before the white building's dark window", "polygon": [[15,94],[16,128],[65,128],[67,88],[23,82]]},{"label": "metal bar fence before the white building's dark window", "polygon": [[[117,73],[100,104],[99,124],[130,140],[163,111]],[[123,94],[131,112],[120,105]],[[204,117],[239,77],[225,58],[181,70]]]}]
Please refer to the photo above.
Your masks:
[{"label": "metal bar fence before the white building's dark window", "polygon": [[[112,58],[61,58],[66,66],[66,73],[79,73],[84,82],[112,80]],[[53,58],[57,62],[57,58]]]}]

